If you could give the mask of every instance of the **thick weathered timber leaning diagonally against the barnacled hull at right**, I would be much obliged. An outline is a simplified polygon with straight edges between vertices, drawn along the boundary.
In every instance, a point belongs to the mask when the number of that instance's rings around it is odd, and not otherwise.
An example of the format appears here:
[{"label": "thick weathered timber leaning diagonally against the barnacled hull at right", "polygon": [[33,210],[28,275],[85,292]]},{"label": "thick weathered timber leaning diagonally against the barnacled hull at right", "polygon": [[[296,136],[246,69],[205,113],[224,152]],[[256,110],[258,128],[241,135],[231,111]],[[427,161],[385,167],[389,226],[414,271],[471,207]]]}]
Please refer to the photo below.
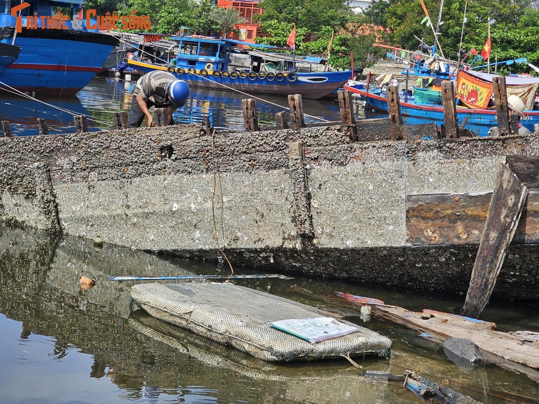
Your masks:
[{"label": "thick weathered timber leaning diagonally against the barnacled hull at right", "polygon": [[527,194],[527,187],[509,166],[501,164],[462,309],[463,316],[477,318],[485,308],[519,224]]}]

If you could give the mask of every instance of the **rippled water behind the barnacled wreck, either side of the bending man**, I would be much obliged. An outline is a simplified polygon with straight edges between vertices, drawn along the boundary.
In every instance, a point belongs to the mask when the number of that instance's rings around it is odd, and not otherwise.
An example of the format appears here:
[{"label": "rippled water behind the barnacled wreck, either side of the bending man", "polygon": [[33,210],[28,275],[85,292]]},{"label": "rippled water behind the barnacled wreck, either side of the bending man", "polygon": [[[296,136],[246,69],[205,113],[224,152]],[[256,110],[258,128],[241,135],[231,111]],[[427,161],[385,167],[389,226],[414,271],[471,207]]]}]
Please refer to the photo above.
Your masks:
[{"label": "rippled water behind the barnacled wreck, either side of the bending man", "polygon": [[[38,118],[46,120],[51,133],[73,132],[73,114],[87,115],[91,130],[108,129],[114,122],[114,112],[130,112],[136,79],[133,77],[132,81],[125,81],[96,77],[76,96],[40,99],[42,102],[0,90],[0,120],[10,121],[13,135],[37,135]],[[288,107],[287,98],[258,96],[268,101],[255,99],[260,126],[274,126],[275,114],[285,110],[283,107]],[[243,94],[192,90],[189,100],[177,110],[174,119],[182,123],[195,123],[204,122],[208,117],[211,125],[217,129],[243,129],[241,99],[245,98],[248,96]],[[303,111],[306,123],[340,119],[337,101],[305,99]]]}]

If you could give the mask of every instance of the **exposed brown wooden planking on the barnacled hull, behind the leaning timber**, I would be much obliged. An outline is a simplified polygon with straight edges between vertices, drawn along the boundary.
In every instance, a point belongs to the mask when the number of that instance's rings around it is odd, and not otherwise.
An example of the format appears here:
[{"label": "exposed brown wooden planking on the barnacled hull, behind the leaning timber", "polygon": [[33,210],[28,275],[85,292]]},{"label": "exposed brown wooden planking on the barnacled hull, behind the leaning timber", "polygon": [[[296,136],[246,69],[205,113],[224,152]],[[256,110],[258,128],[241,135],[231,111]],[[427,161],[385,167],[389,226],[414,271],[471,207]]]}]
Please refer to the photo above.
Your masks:
[{"label": "exposed brown wooden planking on the barnacled hull, behind the leaning timber", "polygon": [[[406,197],[406,243],[412,246],[479,245],[492,193]],[[528,190],[512,244],[539,243],[539,189]]]}]

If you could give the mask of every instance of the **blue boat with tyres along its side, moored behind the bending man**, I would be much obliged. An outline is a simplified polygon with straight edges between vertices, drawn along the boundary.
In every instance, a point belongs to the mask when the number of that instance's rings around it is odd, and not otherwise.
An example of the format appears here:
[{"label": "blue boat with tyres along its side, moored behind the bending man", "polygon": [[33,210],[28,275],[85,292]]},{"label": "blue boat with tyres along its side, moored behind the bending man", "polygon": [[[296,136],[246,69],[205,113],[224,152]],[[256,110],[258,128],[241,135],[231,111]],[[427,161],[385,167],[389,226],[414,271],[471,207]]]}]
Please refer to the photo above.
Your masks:
[{"label": "blue boat with tyres along its side, moored behind the bending man", "polygon": [[[191,88],[238,90],[247,94],[289,95],[301,94],[305,98],[322,98],[347,82],[351,71],[300,71],[302,64],[318,64],[322,59],[308,59],[286,54],[250,54],[239,50],[240,41],[211,37],[172,37],[179,51],[168,64],[143,60],[129,60],[133,68],[142,73],[153,70],[168,71],[185,80]],[[245,43],[245,46],[257,46]],[[280,49],[271,46],[272,49]],[[245,60],[247,65],[232,63]],[[267,62],[267,59],[273,60]]]}]

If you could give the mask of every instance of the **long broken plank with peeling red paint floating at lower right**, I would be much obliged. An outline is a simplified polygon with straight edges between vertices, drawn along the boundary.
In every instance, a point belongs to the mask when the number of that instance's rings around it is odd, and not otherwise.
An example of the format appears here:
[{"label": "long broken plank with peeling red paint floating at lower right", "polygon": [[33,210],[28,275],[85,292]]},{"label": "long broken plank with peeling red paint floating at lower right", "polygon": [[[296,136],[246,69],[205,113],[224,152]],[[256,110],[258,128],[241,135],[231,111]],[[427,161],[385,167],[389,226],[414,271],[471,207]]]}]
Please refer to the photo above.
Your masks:
[{"label": "long broken plank with peeling red paint floating at lower right", "polygon": [[470,339],[483,350],[486,361],[522,372],[539,381],[539,344],[496,331],[494,323],[434,310],[409,311],[381,301],[373,303],[368,297],[342,292],[337,292],[337,296],[360,306],[370,305],[375,315],[416,330],[439,344],[443,344],[449,337]]}]

